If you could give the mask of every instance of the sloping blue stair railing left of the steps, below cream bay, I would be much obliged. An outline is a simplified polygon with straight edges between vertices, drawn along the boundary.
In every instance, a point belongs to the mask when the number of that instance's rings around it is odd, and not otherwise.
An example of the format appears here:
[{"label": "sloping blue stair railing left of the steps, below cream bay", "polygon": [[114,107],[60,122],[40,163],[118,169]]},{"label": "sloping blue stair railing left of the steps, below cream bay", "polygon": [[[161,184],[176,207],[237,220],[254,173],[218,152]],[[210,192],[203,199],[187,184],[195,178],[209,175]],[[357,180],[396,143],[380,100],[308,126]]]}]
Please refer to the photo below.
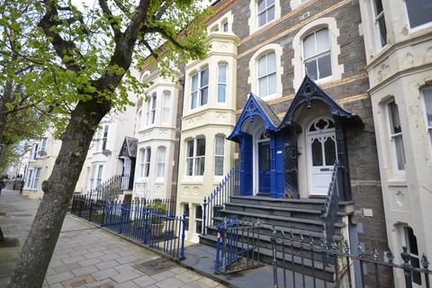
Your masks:
[{"label": "sloping blue stair railing left of the steps, below cream bay", "polygon": [[202,235],[206,235],[207,228],[213,225],[214,217],[220,217],[220,211],[224,204],[229,202],[231,196],[239,193],[239,170],[231,168],[228,175],[225,175],[222,182],[202,203]]}]

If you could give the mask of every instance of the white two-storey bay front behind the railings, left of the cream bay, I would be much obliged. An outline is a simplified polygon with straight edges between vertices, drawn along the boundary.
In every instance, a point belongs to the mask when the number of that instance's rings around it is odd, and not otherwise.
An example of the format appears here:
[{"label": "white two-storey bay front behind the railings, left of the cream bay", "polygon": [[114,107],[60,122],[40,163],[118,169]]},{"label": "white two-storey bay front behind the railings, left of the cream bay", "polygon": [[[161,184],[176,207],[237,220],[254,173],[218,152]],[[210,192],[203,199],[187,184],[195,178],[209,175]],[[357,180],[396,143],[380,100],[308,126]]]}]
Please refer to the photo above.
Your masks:
[{"label": "white two-storey bay front behind the railings, left of the cream bay", "polygon": [[179,85],[171,77],[160,76],[158,71],[146,70],[142,71],[141,82],[152,85],[137,109],[135,138],[138,146],[132,198],[167,199],[175,193],[172,179],[177,160],[175,125],[181,97]]}]

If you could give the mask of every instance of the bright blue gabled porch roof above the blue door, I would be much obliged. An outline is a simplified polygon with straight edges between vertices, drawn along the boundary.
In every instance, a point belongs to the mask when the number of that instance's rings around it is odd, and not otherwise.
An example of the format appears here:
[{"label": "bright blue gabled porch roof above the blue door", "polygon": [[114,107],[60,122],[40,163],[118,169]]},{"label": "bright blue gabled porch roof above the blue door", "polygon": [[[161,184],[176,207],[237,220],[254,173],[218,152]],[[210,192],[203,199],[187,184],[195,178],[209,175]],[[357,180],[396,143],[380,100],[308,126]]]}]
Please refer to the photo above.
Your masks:
[{"label": "bright blue gabled porch roof above the blue door", "polygon": [[272,108],[265,101],[259,99],[255,94],[250,93],[247,103],[243,108],[243,112],[241,112],[236,126],[228,139],[238,141],[238,136],[243,133],[241,130],[243,123],[247,120],[252,122],[255,117],[261,118],[266,130],[278,130],[278,127],[281,124],[281,121]]}]

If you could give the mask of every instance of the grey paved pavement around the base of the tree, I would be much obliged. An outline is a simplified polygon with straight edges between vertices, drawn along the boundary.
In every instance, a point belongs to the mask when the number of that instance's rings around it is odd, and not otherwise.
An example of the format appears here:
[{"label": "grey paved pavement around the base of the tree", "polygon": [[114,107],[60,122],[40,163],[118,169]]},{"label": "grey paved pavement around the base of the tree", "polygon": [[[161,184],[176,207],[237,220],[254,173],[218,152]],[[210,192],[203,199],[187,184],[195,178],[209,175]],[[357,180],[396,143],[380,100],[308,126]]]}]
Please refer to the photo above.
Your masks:
[{"label": "grey paved pavement around the base of the tree", "polygon": [[[6,238],[6,245],[0,246],[0,287],[9,281],[38,206],[38,200],[29,200],[15,191],[3,190],[0,194],[0,227]],[[227,286],[67,215],[43,287]]]}]

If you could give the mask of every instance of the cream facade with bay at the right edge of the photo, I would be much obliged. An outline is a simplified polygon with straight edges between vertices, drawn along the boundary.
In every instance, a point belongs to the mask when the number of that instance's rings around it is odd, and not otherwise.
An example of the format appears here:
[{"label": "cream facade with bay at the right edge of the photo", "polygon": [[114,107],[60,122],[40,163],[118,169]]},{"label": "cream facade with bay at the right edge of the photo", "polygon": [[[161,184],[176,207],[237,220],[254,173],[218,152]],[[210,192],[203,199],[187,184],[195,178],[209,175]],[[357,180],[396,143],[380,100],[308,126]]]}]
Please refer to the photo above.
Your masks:
[{"label": "cream facade with bay at the right edge of the photo", "polygon": [[[389,245],[392,251],[400,251],[417,238],[419,257],[425,253],[430,259],[432,143],[423,92],[432,86],[432,7],[423,7],[429,22],[411,28],[405,1],[383,0],[385,43],[375,22],[374,1],[361,0],[360,6]],[[391,106],[399,112],[400,124],[391,120],[396,113],[389,110]],[[393,126],[400,126],[401,132]],[[397,143],[400,139],[402,146]],[[409,237],[409,228],[415,238]],[[405,286],[401,271],[395,271],[394,283]]]}]

